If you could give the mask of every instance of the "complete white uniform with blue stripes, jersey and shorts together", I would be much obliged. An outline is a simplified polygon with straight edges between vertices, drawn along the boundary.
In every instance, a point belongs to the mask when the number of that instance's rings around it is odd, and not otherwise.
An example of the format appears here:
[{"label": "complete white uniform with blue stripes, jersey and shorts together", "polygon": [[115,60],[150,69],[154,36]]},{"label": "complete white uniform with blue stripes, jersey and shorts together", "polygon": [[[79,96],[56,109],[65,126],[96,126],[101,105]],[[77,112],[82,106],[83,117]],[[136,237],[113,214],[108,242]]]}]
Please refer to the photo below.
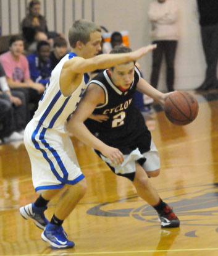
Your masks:
[{"label": "complete white uniform with blue stripes, jersey and shorts together", "polygon": [[38,109],[25,129],[24,143],[37,193],[61,189],[65,184],[76,184],[85,177],[65,130],[65,122],[77,108],[88,78],[84,74],[77,90],[67,97],[62,95],[59,83],[64,63],[75,56],[75,53],[67,54],[54,68]]}]

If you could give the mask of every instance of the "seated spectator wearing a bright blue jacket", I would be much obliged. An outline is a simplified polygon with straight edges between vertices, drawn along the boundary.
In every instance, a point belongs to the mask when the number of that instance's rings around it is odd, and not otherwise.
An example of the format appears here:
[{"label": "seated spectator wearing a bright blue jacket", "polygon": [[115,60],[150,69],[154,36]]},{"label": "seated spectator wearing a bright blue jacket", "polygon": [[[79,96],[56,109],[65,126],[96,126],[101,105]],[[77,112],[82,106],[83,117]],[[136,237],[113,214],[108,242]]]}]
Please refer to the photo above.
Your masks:
[{"label": "seated spectator wearing a bright blue jacket", "polygon": [[52,71],[49,43],[47,41],[39,41],[36,52],[28,55],[27,59],[31,79],[46,86]]}]

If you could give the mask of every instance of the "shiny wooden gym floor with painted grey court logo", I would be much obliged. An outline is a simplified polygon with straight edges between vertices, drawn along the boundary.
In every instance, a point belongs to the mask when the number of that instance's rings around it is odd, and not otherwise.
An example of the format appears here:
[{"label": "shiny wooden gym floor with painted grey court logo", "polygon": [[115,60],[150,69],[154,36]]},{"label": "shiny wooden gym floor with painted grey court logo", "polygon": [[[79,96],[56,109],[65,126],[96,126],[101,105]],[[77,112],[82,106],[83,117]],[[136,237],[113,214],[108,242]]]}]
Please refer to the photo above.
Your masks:
[{"label": "shiny wooden gym floor with painted grey court logo", "polygon": [[[88,191],[64,222],[75,248],[50,249],[41,240],[41,229],[19,213],[36,195],[27,151],[16,142],[0,146],[0,256],[218,255],[218,92],[196,98],[199,114],[188,126],[174,126],[158,108],[145,116],[162,167],[151,182],[174,207],[180,228],[161,229],[156,212],[132,184],[73,139]],[[56,202],[49,203],[48,218]]]}]

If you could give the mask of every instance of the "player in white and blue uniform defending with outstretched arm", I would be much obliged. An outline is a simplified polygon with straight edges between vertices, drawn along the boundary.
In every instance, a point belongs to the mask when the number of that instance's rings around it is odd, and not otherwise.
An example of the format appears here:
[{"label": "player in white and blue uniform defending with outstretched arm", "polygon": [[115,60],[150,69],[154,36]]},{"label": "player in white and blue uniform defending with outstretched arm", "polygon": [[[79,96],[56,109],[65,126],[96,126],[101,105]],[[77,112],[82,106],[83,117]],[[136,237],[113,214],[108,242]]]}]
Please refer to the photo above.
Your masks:
[{"label": "player in white and blue uniform defending with outstretched arm", "polygon": [[[156,46],[149,45],[132,53],[101,54],[101,28],[87,20],[78,20],[69,30],[72,52],[52,70],[51,79],[33,119],[25,129],[24,142],[31,161],[33,186],[40,194],[34,203],[20,208],[25,219],[44,229],[41,238],[52,248],[70,248],[62,223],[86,192],[86,181],[78,165],[69,134],[67,118],[75,111],[88,83],[88,75],[141,58]],[[91,134],[86,143],[99,150],[112,162],[122,163],[124,156],[117,148],[96,141]],[[49,200],[62,191],[51,221],[44,216]]]}]

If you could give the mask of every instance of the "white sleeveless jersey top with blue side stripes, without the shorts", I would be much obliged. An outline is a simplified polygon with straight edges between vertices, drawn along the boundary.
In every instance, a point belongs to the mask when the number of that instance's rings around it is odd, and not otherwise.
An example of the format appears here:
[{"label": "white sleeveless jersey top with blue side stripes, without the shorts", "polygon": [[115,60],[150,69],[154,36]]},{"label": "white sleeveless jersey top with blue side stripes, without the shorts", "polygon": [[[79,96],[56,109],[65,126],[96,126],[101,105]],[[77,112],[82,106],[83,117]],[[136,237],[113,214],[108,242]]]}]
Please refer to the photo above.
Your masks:
[{"label": "white sleeveless jersey top with blue side stripes, without the shorts", "polygon": [[[75,111],[77,105],[82,98],[86,89],[85,75],[78,88],[70,96],[64,96],[60,89],[60,75],[64,63],[70,58],[75,57],[75,53],[68,53],[61,59],[59,64],[52,70],[51,78],[46,85],[46,90],[42,96],[38,109],[33,119],[41,124],[41,126],[49,129],[64,130],[67,117]],[[85,83],[86,82],[86,83]]]}]

